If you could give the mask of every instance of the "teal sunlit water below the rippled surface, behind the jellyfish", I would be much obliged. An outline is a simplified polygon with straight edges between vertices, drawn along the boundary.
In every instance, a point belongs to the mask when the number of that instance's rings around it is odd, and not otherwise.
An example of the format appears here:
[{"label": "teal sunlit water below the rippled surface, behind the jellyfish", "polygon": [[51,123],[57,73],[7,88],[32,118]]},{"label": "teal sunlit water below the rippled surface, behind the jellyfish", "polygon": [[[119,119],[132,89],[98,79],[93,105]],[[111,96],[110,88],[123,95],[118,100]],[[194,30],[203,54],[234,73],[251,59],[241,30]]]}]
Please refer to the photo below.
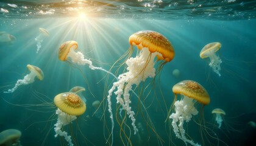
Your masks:
[{"label": "teal sunlit water below the rippled surface, behind the jellyfish", "polygon": [[[226,111],[226,119],[237,131],[219,130],[210,125],[209,127],[213,127],[212,130],[219,139],[228,145],[251,145],[250,142],[255,144],[255,140],[251,141],[255,138],[255,128],[247,124],[250,121],[256,122],[255,19],[87,18],[79,20],[74,17],[54,16],[30,19],[0,18],[0,22],[0,31],[16,37],[13,44],[0,44],[0,131],[7,128],[20,130],[23,133],[22,145],[60,145],[59,137],[54,137],[53,125],[56,119],[51,121],[51,115],[54,114],[55,109],[35,106],[24,108],[22,105],[41,103],[37,96],[52,102],[54,96],[60,92],[69,91],[73,86],[84,86],[87,89],[84,92],[87,98],[87,111],[78,119],[77,124],[73,123],[74,129],[79,128],[87,139],[77,134],[77,141],[83,139],[78,142],[79,145],[107,145],[103,135],[104,120],[92,116],[95,109],[91,106],[94,100],[102,101],[104,98],[105,73],[91,71],[88,66],[79,66],[80,72],[70,64],[60,61],[59,46],[65,41],[75,40],[79,44],[79,50],[91,58],[95,66],[108,70],[129,48],[129,36],[140,30],[154,30],[162,33],[171,41],[176,52],[174,60],[164,66],[160,84],[157,84],[162,89],[165,102],[163,100],[157,102],[153,97],[144,101],[146,106],[151,105],[153,101],[148,112],[157,133],[165,141],[163,145],[170,144],[166,134],[168,127],[165,123],[168,113],[163,107],[166,104],[169,109],[174,100],[172,86],[181,80],[194,80],[207,89],[211,98],[210,104],[204,107],[204,118],[207,123],[216,124],[212,109],[222,108]],[[43,40],[42,47],[36,54],[35,37],[40,34],[39,27],[49,30],[50,36]],[[219,57],[223,61],[221,77],[208,66],[207,59],[203,60],[199,57],[202,47],[215,41],[222,44],[219,50]],[[27,64],[41,68],[44,72],[44,80],[35,80],[30,85],[20,86],[13,94],[4,94],[3,91],[12,88],[16,80],[22,79],[29,72],[26,68]],[[172,75],[174,69],[180,70],[179,78]],[[152,78],[147,80],[149,82]],[[11,86],[5,87],[6,85]],[[161,92],[159,88],[155,89],[157,93]],[[115,97],[112,103],[115,103]],[[131,106],[136,111],[135,97],[132,99]],[[105,114],[105,121],[110,125],[108,111]],[[145,124],[140,115],[137,118],[137,122]],[[130,120],[127,120],[127,124],[130,123]],[[79,127],[77,128],[76,125]],[[143,126],[146,128],[146,125]],[[118,137],[117,124],[115,128],[114,136]],[[198,128],[199,126],[194,125],[193,121],[188,123],[189,134],[193,141],[201,144]],[[143,134],[142,137],[144,138],[142,144],[155,145],[154,135],[149,140],[147,140],[147,134]],[[132,136],[132,139],[135,145],[139,145],[136,136]],[[183,144],[175,138],[174,133],[171,141],[176,145]],[[121,141],[114,141],[114,145],[120,144]],[[219,145],[224,144],[220,142]]]}]

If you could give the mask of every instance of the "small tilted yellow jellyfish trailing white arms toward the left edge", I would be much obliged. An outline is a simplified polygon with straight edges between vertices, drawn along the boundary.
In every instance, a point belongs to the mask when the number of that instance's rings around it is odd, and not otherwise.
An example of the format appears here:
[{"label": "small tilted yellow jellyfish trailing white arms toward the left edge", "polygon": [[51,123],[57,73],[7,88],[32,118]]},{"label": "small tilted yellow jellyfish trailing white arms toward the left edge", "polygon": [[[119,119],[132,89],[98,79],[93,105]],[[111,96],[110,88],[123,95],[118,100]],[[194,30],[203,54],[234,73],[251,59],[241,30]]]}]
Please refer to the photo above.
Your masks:
[{"label": "small tilted yellow jellyfish trailing white arms toward the left edge", "polygon": [[4,93],[12,93],[18,88],[18,86],[33,83],[35,81],[35,77],[37,77],[39,80],[43,80],[44,75],[40,68],[30,64],[27,64],[27,68],[29,69],[30,74],[25,75],[23,80],[18,80],[12,89],[8,89],[8,91],[4,91]]}]

